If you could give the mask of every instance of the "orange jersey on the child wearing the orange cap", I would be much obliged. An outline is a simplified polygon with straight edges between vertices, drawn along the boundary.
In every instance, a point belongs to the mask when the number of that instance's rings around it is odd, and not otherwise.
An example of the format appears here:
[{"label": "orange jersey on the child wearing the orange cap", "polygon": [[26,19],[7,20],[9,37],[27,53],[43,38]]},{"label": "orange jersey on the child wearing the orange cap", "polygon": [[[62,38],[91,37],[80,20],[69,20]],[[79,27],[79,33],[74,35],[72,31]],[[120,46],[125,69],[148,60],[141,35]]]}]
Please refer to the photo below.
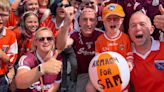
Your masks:
[{"label": "orange jersey on the child wearing the orange cap", "polygon": [[102,34],[98,37],[96,41],[96,52],[102,53],[106,51],[114,51],[123,55],[125,58],[129,56],[129,53],[132,53],[131,43],[128,35],[123,32],[113,39],[110,39],[106,34]]}]

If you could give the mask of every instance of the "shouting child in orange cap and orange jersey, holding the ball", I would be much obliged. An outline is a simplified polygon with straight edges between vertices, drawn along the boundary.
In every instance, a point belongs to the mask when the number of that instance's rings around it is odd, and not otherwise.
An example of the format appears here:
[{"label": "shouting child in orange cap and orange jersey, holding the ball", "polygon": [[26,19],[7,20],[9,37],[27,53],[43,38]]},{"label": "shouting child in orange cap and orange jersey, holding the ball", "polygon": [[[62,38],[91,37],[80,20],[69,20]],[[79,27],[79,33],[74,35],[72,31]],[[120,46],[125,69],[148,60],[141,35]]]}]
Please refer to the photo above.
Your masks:
[{"label": "shouting child in orange cap and orange jersey, holding the ball", "polygon": [[[132,70],[133,54],[131,42],[128,35],[120,30],[124,17],[125,13],[119,4],[111,3],[103,9],[102,18],[105,32],[96,40],[95,50],[96,53],[114,51],[121,54],[124,58],[126,58],[129,63],[130,70]],[[88,85],[92,84],[88,83]],[[96,92],[94,87],[88,85],[86,87],[87,92]]]}]

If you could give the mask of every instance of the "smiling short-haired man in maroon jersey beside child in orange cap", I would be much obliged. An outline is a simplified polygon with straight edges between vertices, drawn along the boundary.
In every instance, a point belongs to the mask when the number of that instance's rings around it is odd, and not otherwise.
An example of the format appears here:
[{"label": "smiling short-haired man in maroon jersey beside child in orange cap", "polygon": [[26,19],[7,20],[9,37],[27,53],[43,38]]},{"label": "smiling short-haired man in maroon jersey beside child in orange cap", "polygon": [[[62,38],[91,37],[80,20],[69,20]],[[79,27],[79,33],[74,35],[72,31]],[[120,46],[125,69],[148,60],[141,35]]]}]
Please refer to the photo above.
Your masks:
[{"label": "smiling short-haired man in maroon jersey beside child in orange cap", "polygon": [[78,76],[76,92],[85,92],[88,82],[88,67],[95,56],[95,41],[101,31],[95,30],[97,24],[96,12],[92,8],[84,8],[79,17],[80,31],[74,32],[71,38],[74,40],[73,49],[76,54]]}]

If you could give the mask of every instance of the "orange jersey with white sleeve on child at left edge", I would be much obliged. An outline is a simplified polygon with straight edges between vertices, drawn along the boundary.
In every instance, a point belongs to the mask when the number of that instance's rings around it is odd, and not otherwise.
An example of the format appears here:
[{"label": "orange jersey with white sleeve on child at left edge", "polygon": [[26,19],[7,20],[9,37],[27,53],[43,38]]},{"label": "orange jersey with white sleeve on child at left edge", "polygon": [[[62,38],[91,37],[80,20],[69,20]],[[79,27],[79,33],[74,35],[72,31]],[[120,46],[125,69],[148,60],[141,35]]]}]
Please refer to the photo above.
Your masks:
[{"label": "orange jersey with white sleeve on child at left edge", "polygon": [[[18,45],[14,32],[6,28],[3,29],[0,34],[0,49],[9,56],[9,64],[15,63],[18,54]],[[0,61],[0,75],[6,72],[7,63]]]}]

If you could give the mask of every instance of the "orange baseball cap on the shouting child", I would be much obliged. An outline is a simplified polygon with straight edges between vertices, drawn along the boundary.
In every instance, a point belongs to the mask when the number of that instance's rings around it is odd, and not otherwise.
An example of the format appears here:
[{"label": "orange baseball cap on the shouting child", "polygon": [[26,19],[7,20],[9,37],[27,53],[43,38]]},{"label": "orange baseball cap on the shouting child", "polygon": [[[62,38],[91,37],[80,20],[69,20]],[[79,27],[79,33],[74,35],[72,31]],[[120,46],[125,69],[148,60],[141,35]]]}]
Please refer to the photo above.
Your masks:
[{"label": "orange baseball cap on the shouting child", "polygon": [[109,5],[103,8],[102,18],[104,19],[109,15],[118,15],[120,17],[125,17],[125,13],[122,6],[115,3],[110,3]]}]

